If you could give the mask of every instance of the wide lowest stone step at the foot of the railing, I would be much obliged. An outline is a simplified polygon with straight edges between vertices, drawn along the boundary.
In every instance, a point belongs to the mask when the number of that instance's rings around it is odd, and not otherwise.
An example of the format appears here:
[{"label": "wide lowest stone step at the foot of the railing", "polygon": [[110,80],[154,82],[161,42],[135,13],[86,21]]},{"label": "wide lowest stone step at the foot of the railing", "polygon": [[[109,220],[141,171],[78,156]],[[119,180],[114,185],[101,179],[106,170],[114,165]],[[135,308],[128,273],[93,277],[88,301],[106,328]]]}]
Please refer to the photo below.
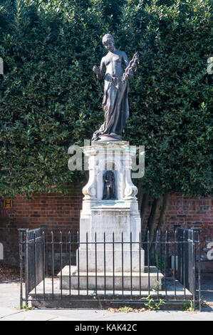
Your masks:
[{"label": "wide lowest stone step at the foot of the railing", "polygon": [[[164,280],[164,279],[163,279]],[[184,295],[184,288],[180,282],[176,281],[176,294],[172,289],[173,280],[167,279],[167,290],[165,291],[165,284],[162,284],[162,291],[100,291],[97,294],[93,290],[78,290],[60,289],[59,280],[54,278],[46,278],[45,282],[37,285],[36,290],[30,293],[33,307],[45,308],[94,308],[94,309],[108,309],[119,308],[121,306],[132,306],[133,308],[142,308],[146,302],[142,298],[146,298],[148,294],[153,299],[164,299],[165,305],[162,309],[181,309],[184,301],[192,299],[192,294],[186,289]],[[43,288],[45,287],[45,294]]]}]

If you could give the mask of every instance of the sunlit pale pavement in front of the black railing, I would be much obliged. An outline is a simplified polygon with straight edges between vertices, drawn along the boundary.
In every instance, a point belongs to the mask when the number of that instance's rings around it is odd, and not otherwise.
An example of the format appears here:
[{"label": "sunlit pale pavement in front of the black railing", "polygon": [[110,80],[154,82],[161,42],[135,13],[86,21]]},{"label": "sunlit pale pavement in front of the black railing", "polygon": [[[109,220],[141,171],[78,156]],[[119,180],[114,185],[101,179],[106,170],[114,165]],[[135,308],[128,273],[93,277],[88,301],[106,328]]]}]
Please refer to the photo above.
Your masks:
[{"label": "sunlit pale pavement in front of the black railing", "polygon": [[207,301],[201,313],[186,311],[142,311],[111,313],[94,309],[19,309],[19,282],[0,283],[0,321],[213,321],[213,276],[202,279],[202,299]]}]

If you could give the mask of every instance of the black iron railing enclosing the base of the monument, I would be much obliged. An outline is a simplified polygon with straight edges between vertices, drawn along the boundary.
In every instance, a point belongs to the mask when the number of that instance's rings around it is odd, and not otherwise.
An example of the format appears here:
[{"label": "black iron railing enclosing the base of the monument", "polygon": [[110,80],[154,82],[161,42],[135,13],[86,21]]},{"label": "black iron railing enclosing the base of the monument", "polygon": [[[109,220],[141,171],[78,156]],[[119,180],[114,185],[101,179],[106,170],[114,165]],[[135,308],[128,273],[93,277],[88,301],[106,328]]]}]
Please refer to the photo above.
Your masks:
[{"label": "black iron railing enclosing the base of the monument", "polygon": [[[85,250],[81,259],[80,248]],[[100,248],[103,256],[101,260]],[[115,251],[119,248],[120,257],[118,259]],[[127,249],[128,256],[125,253]],[[142,249],[145,252],[145,268],[143,268],[141,259]],[[152,295],[154,301],[159,301],[162,296],[167,302],[184,302],[192,299],[194,309],[199,304],[199,310],[201,310],[200,230],[177,228],[172,236],[168,231],[165,234],[155,232],[152,239],[150,232],[147,232],[145,236],[140,233],[137,242],[133,242],[132,233],[128,241],[124,239],[123,233],[120,240],[118,238],[115,240],[113,232],[110,240],[106,239],[105,233],[102,240],[100,237],[97,239],[95,233],[93,242],[89,241],[88,233],[86,233],[85,242],[80,242],[79,233],[76,231],[68,231],[66,234],[61,231],[58,234],[54,232],[48,234],[42,228],[19,230],[19,251],[21,306],[28,304],[29,301],[46,301],[47,299],[58,301],[70,298],[72,301],[75,299],[77,301],[79,296],[84,297],[81,299],[82,302],[96,298],[101,301],[110,299],[110,301],[123,303],[128,301],[128,303],[143,304],[142,298],[145,297],[145,294],[148,296],[152,292],[152,276],[155,272],[156,286]],[[134,252],[138,252],[137,289],[135,289]],[[125,268],[127,262],[125,257],[128,257],[128,269]],[[84,283],[80,277],[81,262],[85,263]],[[92,284],[90,282],[91,262],[93,262]],[[110,279],[108,278],[109,262]],[[119,275],[118,263],[120,264]],[[63,268],[65,266],[68,267],[66,288],[63,287]],[[76,266],[74,277],[73,266]],[[103,281],[101,285],[99,283],[100,266]],[[145,274],[147,276],[146,289],[142,286]],[[118,284],[119,281],[120,284]]]}]

